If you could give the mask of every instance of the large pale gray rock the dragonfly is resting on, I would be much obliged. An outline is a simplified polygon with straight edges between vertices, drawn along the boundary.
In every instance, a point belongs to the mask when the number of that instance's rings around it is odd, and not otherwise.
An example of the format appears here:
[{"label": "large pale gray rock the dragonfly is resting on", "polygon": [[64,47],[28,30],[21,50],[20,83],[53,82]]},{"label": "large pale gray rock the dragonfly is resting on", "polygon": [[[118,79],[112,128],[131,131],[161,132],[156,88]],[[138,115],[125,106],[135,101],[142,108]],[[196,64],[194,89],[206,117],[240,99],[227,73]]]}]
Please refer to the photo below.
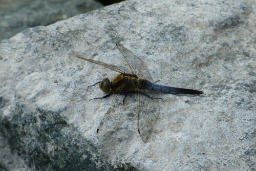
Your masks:
[{"label": "large pale gray rock the dragonfly is resting on", "polygon": [[[3,40],[0,168],[255,169],[255,19],[253,1],[126,1]],[[105,94],[87,87],[117,73],[75,54],[124,66],[117,41],[159,83],[205,92],[160,93],[147,143],[132,101],[120,128],[96,138],[112,98],[89,101]]]}]

